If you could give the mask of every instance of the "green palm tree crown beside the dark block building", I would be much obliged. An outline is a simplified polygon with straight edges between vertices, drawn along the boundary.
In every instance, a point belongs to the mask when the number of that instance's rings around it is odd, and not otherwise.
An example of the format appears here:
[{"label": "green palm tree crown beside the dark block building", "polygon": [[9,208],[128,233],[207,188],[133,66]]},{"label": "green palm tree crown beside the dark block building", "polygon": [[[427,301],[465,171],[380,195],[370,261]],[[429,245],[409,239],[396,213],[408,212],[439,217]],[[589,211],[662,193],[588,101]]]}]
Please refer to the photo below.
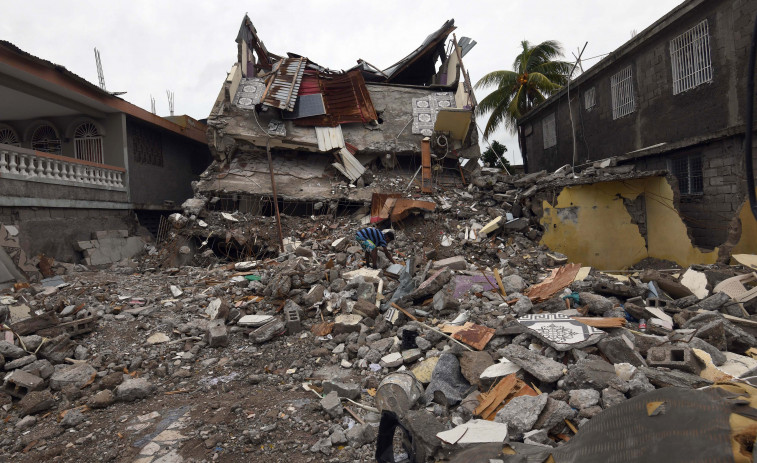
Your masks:
[{"label": "green palm tree crown beside the dark block building", "polygon": [[531,46],[528,40],[521,43],[523,51],[515,58],[512,71],[494,71],[476,83],[476,88],[496,86],[496,89],[478,104],[479,115],[491,112],[486,123],[484,138],[504,125],[515,133],[516,119],[556,93],[568,83],[571,64],[553,61],[562,56],[562,47],[554,40]]}]

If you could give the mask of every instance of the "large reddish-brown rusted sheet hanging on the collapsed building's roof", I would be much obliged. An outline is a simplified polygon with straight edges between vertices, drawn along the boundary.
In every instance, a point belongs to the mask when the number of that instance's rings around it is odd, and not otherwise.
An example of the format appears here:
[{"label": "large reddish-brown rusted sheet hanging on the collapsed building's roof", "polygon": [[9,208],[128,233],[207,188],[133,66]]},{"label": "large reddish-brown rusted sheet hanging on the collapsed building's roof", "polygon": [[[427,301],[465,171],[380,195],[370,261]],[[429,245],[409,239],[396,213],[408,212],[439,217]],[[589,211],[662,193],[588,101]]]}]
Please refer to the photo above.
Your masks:
[{"label": "large reddish-brown rusted sheet hanging on the collapsed building's roof", "polygon": [[329,126],[378,119],[368,88],[360,71],[339,75],[321,75],[318,78],[326,114],[305,117],[294,121],[296,125]]}]

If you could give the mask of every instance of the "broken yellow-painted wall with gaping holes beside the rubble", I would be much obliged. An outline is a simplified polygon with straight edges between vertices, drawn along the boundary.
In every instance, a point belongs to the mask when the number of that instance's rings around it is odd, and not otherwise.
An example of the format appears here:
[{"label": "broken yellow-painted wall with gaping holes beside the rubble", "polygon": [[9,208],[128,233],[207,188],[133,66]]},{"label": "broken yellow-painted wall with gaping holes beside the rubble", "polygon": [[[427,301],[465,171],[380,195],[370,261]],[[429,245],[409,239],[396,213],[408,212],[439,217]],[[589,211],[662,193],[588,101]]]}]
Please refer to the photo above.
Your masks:
[{"label": "broken yellow-painted wall with gaping holes beside the rubble", "polygon": [[[635,201],[641,195],[645,199],[646,240],[624,204],[624,199]],[[717,248],[703,251],[692,245],[665,177],[566,187],[554,206],[544,201],[543,208],[542,244],[572,262],[613,270],[646,257],[672,260],[681,266],[711,264],[718,257]],[[734,252],[757,253],[757,222],[748,210],[742,210],[741,220],[742,239]]]}]

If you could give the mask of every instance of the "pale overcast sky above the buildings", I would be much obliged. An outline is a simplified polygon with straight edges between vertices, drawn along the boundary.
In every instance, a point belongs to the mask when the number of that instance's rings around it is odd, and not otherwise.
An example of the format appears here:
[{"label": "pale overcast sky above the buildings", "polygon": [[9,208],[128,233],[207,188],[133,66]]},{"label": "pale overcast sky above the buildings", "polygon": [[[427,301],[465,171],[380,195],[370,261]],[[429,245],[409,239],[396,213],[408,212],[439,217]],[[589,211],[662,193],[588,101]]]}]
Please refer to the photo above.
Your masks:
[{"label": "pale overcast sky above the buildings", "polygon": [[[288,51],[331,69],[348,69],[362,58],[389,67],[447,19],[458,39],[478,45],[463,59],[475,82],[511,69],[521,40],[557,40],[565,59],[589,42],[584,58],[611,52],[673,9],[679,0],[492,1],[25,1],[3,12],[0,39],[97,83],[93,48],[100,50],[106,87],[126,91],[129,102],[168,115],[166,89],[175,113],[208,116],[236,61],[236,38],[245,13],[268,50]],[[598,59],[588,60],[584,69]],[[484,91],[476,92],[481,100]],[[486,120],[479,120],[483,129]],[[520,164],[514,136],[499,131],[508,159]],[[482,149],[486,143],[482,142]]]}]

